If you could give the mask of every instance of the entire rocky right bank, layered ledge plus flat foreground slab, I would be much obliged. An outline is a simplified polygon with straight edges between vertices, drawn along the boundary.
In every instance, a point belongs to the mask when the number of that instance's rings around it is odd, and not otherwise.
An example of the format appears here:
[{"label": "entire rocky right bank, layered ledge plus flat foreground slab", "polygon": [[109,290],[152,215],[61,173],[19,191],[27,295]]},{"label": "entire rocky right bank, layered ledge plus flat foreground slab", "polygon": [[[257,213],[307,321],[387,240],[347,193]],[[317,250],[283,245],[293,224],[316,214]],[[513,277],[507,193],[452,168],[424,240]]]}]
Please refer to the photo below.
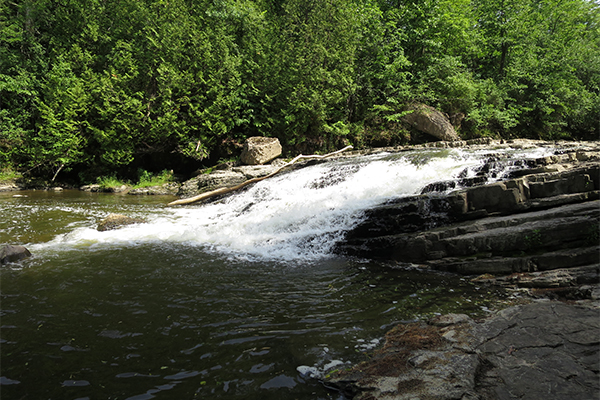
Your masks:
[{"label": "entire rocky right bank, layered ledge plus flat foreground slab", "polygon": [[487,184],[499,163],[490,157],[475,176],[368,210],[337,250],[476,275],[476,284],[543,300],[479,322],[400,324],[368,361],[326,385],[354,400],[598,397],[598,143],[517,162]]}]

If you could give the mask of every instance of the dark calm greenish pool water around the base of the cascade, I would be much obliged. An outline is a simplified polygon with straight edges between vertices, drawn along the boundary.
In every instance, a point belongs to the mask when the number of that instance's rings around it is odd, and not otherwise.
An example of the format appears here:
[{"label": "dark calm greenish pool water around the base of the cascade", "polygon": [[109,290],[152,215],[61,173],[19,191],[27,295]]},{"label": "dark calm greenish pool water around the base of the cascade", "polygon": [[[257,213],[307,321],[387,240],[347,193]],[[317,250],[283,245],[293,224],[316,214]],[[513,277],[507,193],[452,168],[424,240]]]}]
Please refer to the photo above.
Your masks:
[{"label": "dark calm greenish pool water around the base of the cascade", "polygon": [[483,315],[498,298],[456,276],[360,260],[71,240],[109,212],[161,216],[169,199],[13,194],[0,193],[0,243],[34,256],[0,270],[2,400],[339,399],[306,371],[363,359],[399,321]]}]

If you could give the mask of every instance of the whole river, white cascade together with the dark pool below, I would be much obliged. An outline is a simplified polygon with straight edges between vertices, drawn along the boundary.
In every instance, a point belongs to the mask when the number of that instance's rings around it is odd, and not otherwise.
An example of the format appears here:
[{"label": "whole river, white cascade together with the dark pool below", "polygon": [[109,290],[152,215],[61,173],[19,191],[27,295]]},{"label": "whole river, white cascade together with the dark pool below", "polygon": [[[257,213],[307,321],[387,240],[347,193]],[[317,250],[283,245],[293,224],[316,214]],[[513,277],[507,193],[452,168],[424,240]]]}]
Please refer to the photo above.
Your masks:
[{"label": "whole river, white cascade together with the dark pool below", "polygon": [[[332,254],[368,207],[486,160],[340,159],[181,208],[161,196],[0,193],[0,243],[33,253],[0,271],[1,397],[341,399],[322,371],[361,360],[394,324],[483,316],[502,300],[466,278]],[[113,212],[147,223],[98,232]]]}]

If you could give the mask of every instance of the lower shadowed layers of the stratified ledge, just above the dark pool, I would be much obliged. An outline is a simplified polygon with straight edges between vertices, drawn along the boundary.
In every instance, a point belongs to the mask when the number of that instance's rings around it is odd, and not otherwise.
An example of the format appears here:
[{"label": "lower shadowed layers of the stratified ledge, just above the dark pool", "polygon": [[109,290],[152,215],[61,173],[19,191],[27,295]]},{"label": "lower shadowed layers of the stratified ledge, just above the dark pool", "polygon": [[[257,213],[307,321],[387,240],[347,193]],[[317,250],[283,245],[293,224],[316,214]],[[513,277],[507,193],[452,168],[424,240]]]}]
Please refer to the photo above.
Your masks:
[{"label": "lower shadowed layers of the stratified ledge, just above the dark pool", "polygon": [[600,202],[591,201],[413,233],[364,238],[359,231],[363,237],[350,237],[338,250],[461,274],[510,274],[599,262],[599,224]]}]

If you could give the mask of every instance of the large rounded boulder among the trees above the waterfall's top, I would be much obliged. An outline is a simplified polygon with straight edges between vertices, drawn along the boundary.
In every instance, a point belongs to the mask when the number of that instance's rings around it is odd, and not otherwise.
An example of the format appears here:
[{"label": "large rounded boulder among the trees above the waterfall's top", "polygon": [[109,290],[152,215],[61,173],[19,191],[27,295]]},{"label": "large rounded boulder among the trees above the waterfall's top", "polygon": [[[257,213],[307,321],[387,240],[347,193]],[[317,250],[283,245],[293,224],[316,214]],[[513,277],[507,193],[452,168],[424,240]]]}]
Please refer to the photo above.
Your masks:
[{"label": "large rounded boulder among the trees above the waterfall's top", "polygon": [[403,121],[415,129],[445,141],[460,140],[454,127],[445,114],[425,104],[413,104],[408,107],[411,111],[403,117]]}]

